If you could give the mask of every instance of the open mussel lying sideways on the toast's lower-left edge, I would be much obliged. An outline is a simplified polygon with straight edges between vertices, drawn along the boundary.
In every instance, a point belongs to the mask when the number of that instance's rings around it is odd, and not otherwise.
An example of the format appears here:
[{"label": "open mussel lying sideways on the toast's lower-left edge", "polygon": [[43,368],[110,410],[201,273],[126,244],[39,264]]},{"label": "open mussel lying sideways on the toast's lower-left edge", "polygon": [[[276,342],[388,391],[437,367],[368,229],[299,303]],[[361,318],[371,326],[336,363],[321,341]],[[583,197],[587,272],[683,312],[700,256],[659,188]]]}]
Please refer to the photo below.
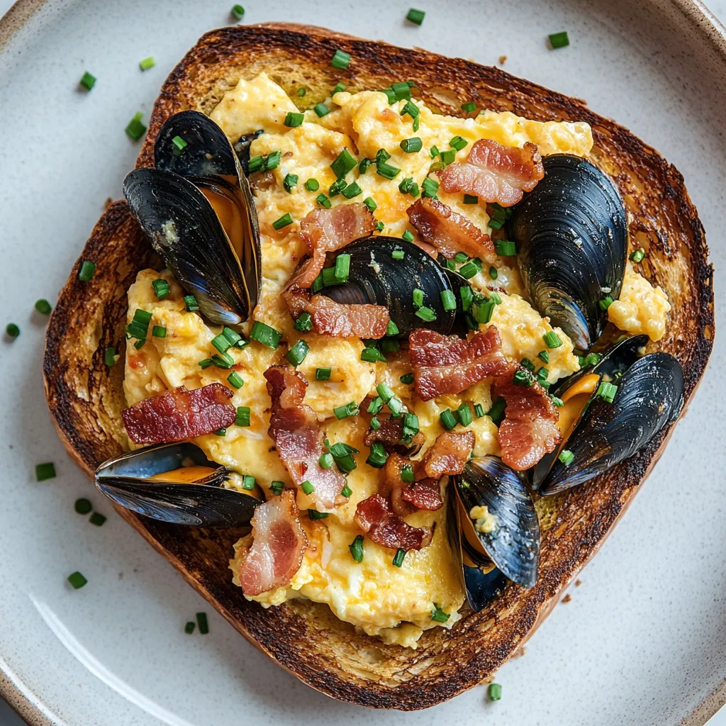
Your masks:
[{"label": "open mussel lying sideways on the toast's lower-left edge", "polygon": [[[209,469],[209,475],[189,484],[155,481],[151,477],[187,466]],[[194,444],[160,444],[126,452],[96,470],[96,486],[116,504],[163,522],[200,527],[248,524],[264,500],[221,484],[229,472],[210,462]],[[173,478],[173,476],[169,477]]]}]

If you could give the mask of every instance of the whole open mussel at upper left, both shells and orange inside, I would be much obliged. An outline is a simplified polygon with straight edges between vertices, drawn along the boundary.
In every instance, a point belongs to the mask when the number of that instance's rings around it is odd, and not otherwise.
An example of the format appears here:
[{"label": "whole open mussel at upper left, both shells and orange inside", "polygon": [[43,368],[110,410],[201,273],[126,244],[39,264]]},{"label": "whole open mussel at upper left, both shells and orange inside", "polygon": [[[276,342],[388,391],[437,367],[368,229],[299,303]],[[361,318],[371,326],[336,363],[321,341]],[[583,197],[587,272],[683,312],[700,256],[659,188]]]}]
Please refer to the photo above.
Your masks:
[{"label": "whole open mussel at upper left, both shells and orange inside", "polygon": [[244,322],[260,294],[261,246],[237,154],[197,111],[169,118],[154,152],[155,169],[136,169],[123,181],[131,211],[205,317],[218,325]]}]

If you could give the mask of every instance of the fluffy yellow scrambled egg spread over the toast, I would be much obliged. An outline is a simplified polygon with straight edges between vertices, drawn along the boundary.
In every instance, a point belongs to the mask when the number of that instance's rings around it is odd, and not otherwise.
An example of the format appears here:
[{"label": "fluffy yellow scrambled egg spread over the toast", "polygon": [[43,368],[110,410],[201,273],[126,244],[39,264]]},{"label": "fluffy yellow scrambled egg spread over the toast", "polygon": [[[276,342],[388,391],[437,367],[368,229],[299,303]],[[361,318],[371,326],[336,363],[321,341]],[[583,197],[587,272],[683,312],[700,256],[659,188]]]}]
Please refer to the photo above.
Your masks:
[{"label": "fluffy yellow scrambled egg spread over the toast", "polygon": [[[375,168],[365,174],[359,174],[356,168],[348,179],[357,181],[362,189],[354,201],[367,197],[375,200],[376,219],[383,221],[385,226],[383,234],[400,236],[407,229],[412,234],[415,230],[409,227],[406,215],[413,199],[399,192],[398,184],[406,177],[411,177],[419,186],[422,184],[431,166],[433,145],[447,150],[453,136],[462,136],[469,144],[457,152],[458,159],[465,158],[470,144],[481,138],[515,146],[534,142],[542,154],[586,155],[592,147],[587,123],[542,123],[513,113],[489,111],[476,119],[454,118],[433,113],[423,102],[415,101],[415,104],[420,110],[420,128],[415,134],[411,119],[401,116],[404,101],[389,105],[386,95],[380,91],[336,93],[332,99],[327,99],[330,113],[319,118],[313,110],[306,110],[301,126],[288,129],[284,125],[285,116],[297,112],[298,108],[277,83],[261,73],[252,81],[241,80],[211,113],[213,121],[224,129],[232,142],[242,134],[264,130],[264,134],[251,144],[252,156],[275,151],[282,154],[279,166],[272,171],[274,183],[258,190],[255,200],[261,229],[263,279],[254,318],[279,330],[283,343],[277,351],[254,341],[242,350],[229,349],[244,380],[242,388],[234,390],[232,403],[250,407],[250,426],[232,426],[225,436],[211,434],[195,440],[211,460],[237,473],[254,476],[266,495],[272,481],[289,484],[290,478],[267,435],[270,401],[263,373],[270,365],[285,362],[285,351],[300,337],[293,328],[281,293],[306,253],[305,245],[298,237],[299,222],[316,208],[319,192],[326,192],[335,181],[330,163],[338,154],[345,148],[357,151],[358,158],[374,158],[380,148],[391,154],[389,163],[402,170],[395,181],[378,176]],[[414,135],[422,139],[422,150],[403,152],[399,142]],[[289,192],[283,186],[287,174],[298,176],[298,184]],[[308,179],[317,179],[319,190],[308,191],[304,186]],[[483,205],[464,205],[462,195],[442,193],[440,198],[473,224],[491,232]],[[331,202],[338,205],[348,200],[338,195]],[[293,217],[293,224],[275,230],[272,223],[285,213]],[[167,280],[171,287],[171,294],[161,301],[152,288],[152,281],[158,277]],[[482,272],[471,283],[475,290],[484,290],[491,280]],[[504,287],[507,293],[501,293],[502,302],[494,308],[489,325],[497,326],[508,358],[527,357],[537,361],[537,353],[544,347],[542,336],[553,330],[550,323],[523,298],[524,290],[516,269],[499,269],[497,285]],[[216,367],[202,370],[197,364],[213,352],[211,340],[220,329],[206,325],[197,314],[187,313],[183,294],[168,271],[144,270],[129,290],[129,321],[140,308],[152,313],[152,325],[166,327],[165,338],[150,337],[139,350],[133,346],[127,348],[124,390],[129,405],[175,386],[196,388],[208,383],[226,383],[227,371]],[[664,319],[668,309],[662,290],[653,290],[629,267],[621,301],[613,303],[610,316],[624,330],[646,330],[657,340],[663,334],[658,327],[659,321]],[[550,350],[547,366],[550,381],[569,375],[579,367],[571,340],[562,330],[554,330],[563,345]],[[298,491],[298,507],[303,513],[301,519],[310,547],[289,587],[265,592],[254,599],[270,606],[293,597],[308,597],[327,603],[338,618],[370,635],[378,635],[386,643],[415,648],[424,629],[439,625],[451,627],[460,618],[458,611],[464,601],[462,585],[446,542],[446,507],[437,512],[420,511],[407,518],[413,526],[436,525],[436,529],[431,545],[420,552],[409,552],[400,568],[392,566],[391,550],[367,539],[364,558],[356,563],[348,552],[349,544],[359,534],[354,523],[356,505],[377,491],[379,473],[364,463],[367,449],[362,439],[367,423],[362,417],[337,420],[333,408],[350,401],[362,401],[378,383],[385,381],[418,416],[428,446],[443,431],[439,414],[444,409],[455,409],[462,402],[472,406],[481,404],[485,410],[491,407],[489,382],[477,383],[455,396],[418,401],[413,399],[413,387],[400,380],[400,376],[409,371],[405,354],[389,356],[387,364],[367,363],[360,359],[364,345],[357,338],[309,334],[305,339],[310,350],[298,370],[309,381],[306,404],[319,416],[321,428],[331,443],[344,441],[359,449],[361,454],[356,457],[357,468],[348,475],[348,486],[353,492],[349,501],[325,520],[310,521],[304,515],[311,502]],[[330,381],[315,380],[314,372],[318,367],[333,368]],[[497,426],[488,416],[475,417],[468,428],[476,435],[474,455],[499,454]],[[492,526],[492,521],[486,517],[488,513],[474,514],[481,519],[481,526]],[[245,538],[235,547],[237,557],[232,560],[231,567],[237,584],[240,553],[248,544],[249,540]],[[446,623],[432,621],[434,603],[449,613]]]}]

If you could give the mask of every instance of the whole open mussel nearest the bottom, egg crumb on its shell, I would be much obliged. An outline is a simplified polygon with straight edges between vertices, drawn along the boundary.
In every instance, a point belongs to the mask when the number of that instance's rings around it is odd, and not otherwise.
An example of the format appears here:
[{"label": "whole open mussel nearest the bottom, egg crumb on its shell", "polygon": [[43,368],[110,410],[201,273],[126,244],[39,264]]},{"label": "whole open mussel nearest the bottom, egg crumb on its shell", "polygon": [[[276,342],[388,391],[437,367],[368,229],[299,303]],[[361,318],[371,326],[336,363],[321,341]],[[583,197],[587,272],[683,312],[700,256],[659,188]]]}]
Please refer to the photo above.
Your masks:
[{"label": "whole open mussel nearest the bottom, egg crumb on its shell", "polygon": [[499,457],[469,460],[464,472],[451,479],[448,506],[449,540],[461,555],[473,610],[481,610],[507,580],[534,585],[539,520],[529,490],[515,471]]}]

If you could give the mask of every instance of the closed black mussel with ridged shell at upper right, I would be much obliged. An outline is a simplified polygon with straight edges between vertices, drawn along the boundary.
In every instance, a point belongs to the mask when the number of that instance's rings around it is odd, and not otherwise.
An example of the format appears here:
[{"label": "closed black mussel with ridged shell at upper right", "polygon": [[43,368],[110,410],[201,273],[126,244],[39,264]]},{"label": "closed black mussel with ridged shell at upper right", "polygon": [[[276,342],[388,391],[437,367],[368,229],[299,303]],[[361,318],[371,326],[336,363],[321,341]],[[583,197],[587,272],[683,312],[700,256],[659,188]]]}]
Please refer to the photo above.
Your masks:
[{"label": "closed black mussel with ridged shell at upper right", "polygon": [[576,348],[600,337],[606,296],[616,300],[625,272],[627,216],[609,177],[586,159],[542,159],[544,179],[515,206],[509,223],[534,307]]}]

